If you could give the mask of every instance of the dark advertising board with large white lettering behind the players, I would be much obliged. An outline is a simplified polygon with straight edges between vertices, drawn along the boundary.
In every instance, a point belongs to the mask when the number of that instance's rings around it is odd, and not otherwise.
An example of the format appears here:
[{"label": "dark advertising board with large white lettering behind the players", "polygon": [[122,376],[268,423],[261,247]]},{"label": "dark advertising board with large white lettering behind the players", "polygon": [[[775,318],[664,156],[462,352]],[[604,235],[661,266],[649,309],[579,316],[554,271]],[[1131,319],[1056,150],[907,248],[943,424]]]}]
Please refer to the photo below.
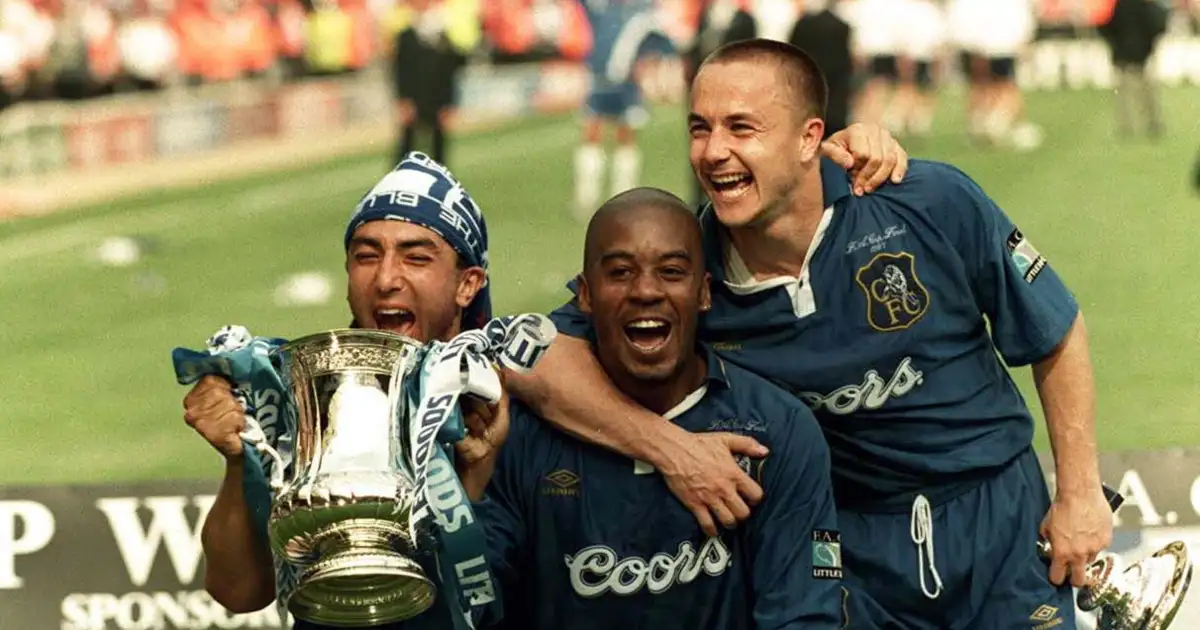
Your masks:
[{"label": "dark advertising board with large white lettering behind the players", "polygon": [[[1141,558],[1174,539],[1200,545],[1200,450],[1105,454],[1100,468],[1127,499],[1114,551]],[[0,486],[0,628],[289,628],[274,606],[233,616],[204,592],[200,526],[217,486]],[[1200,626],[1194,600],[1177,628]]]}]

